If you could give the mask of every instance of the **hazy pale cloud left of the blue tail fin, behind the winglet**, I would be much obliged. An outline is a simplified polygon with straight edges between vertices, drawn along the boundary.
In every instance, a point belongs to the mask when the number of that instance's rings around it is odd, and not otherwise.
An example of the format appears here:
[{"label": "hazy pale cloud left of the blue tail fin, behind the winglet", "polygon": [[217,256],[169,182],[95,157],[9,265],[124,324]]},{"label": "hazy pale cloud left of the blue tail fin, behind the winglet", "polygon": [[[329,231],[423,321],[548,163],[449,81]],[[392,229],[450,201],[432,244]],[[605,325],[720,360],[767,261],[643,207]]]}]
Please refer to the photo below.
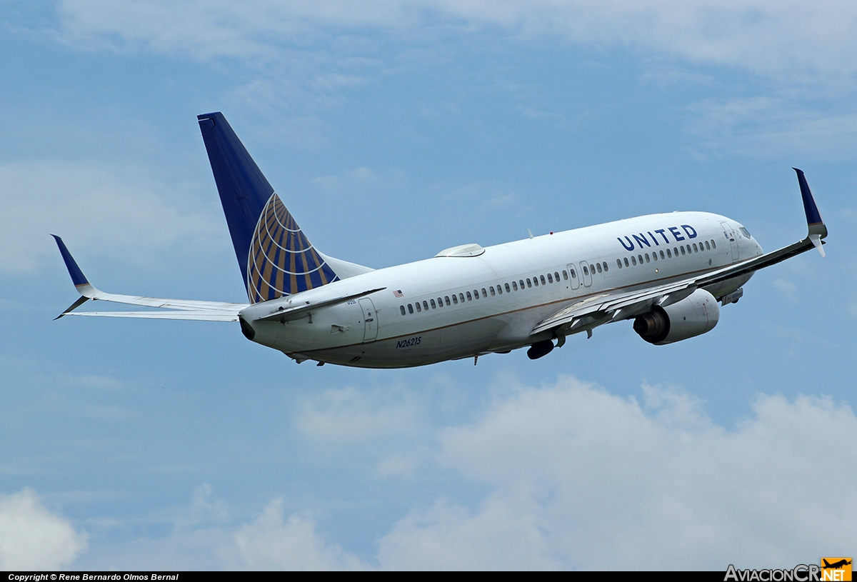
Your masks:
[{"label": "hazy pale cloud left of the blue tail fin, behind the winglet", "polygon": [[179,241],[202,252],[210,239],[225,237],[213,214],[173,207],[149,186],[67,162],[0,165],[0,271],[26,273],[56,261],[49,233],[63,237],[78,258],[98,253],[131,263]]}]

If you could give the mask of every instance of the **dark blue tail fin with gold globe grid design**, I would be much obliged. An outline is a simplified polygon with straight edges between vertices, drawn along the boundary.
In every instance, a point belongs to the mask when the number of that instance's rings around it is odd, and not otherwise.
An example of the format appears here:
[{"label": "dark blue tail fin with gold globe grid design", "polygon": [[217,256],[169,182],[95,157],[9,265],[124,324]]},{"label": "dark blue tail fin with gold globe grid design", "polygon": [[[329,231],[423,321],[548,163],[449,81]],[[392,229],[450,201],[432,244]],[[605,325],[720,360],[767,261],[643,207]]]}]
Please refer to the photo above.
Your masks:
[{"label": "dark blue tail fin with gold globe grid design", "polygon": [[339,280],[222,113],[197,116],[250,303]]}]

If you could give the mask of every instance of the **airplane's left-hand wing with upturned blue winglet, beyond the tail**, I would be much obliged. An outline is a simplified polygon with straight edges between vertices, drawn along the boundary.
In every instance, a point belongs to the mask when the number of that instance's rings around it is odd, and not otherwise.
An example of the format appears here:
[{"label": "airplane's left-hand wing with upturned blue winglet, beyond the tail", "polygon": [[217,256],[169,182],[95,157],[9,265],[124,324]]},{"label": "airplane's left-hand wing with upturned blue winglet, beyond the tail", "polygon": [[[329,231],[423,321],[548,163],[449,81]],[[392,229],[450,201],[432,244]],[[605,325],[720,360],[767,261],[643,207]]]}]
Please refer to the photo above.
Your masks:
[{"label": "airplane's left-hand wing with upturned blue winglet, beyond the tail", "polygon": [[[87,277],[77,266],[74,257],[69,253],[63,239],[57,235],[51,235],[57,240],[59,252],[63,255],[66,268],[69,269],[71,280],[75,289],[81,297],[69,305],[55,319],[63,315],[88,315],[97,317],[141,317],[146,319],[174,319],[174,320],[199,320],[199,321],[238,321],[238,312],[247,307],[248,303],[223,303],[217,301],[194,301],[185,299],[160,299],[158,297],[139,297],[134,295],[117,295],[105,293],[90,285]],[[81,311],[74,310],[92,299],[93,301],[108,301],[111,303],[125,303],[127,305],[138,305],[141,307],[156,307],[171,309],[171,311]]]}]

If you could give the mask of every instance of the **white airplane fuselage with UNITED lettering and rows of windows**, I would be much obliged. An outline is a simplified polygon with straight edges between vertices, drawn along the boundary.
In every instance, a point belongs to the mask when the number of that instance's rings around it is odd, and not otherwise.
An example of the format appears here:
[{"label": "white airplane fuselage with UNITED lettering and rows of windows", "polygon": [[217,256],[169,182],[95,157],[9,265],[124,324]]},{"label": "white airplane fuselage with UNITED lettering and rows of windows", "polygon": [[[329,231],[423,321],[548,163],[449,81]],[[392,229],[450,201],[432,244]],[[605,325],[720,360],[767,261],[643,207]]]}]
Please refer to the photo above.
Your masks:
[{"label": "white airplane fuselage with UNITED lettering and rows of windows", "polygon": [[[242,310],[249,336],[303,361],[403,368],[506,352],[566,305],[707,273],[762,255],[739,223],[712,213],[650,214],[359,274]],[[483,252],[482,252],[483,251]],[[722,297],[751,274],[706,288]],[[258,321],[280,306],[385,288],[291,321]],[[246,325],[246,323],[245,323]],[[584,331],[585,327],[575,330]]]}]

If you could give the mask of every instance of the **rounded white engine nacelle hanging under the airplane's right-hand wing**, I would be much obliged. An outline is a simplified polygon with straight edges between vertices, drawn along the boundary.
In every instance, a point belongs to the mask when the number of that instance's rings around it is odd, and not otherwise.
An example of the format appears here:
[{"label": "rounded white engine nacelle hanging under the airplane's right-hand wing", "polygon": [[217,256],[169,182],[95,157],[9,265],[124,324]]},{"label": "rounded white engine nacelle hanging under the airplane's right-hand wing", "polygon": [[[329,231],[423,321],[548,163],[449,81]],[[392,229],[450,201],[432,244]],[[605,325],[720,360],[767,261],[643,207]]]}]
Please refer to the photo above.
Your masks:
[{"label": "rounded white engine nacelle hanging under the airplane's right-hand wing", "polygon": [[710,332],[720,320],[720,306],[708,291],[698,289],[679,302],[661,307],[634,320],[634,331],[650,344],[672,344]]}]

